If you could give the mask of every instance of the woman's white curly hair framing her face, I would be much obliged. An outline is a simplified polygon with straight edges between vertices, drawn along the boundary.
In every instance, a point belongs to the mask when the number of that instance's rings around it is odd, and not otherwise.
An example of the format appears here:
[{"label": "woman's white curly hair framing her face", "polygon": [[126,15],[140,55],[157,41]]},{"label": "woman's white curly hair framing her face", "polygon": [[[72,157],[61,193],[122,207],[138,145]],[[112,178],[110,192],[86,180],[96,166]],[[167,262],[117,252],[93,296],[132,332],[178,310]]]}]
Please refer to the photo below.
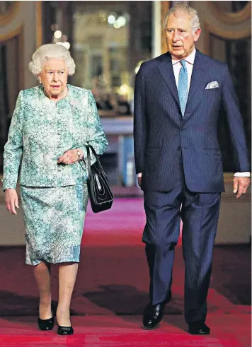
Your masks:
[{"label": "woman's white curly hair framing her face", "polygon": [[42,71],[42,65],[49,59],[62,59],[66,62],[68,75],[71,76],[74,74],[75,63],[69,50],[62,45],[57,45],[56,43],[49,43],[38,47],[38,49],[33,53],[33,61],[30,61],[28,65],[29,70],[38,78],[38,75]]}]

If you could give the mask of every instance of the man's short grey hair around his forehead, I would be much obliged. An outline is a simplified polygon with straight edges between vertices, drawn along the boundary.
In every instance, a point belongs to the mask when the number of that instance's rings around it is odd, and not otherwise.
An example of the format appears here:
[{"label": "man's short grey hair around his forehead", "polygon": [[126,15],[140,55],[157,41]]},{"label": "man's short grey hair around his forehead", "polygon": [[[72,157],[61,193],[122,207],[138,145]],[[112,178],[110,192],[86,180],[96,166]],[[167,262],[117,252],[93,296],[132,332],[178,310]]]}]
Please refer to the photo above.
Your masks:
[{"label": "man's short grey hair around his forehead", "polygon": [[167,20],[168,18],[173,15],[176,16],[178,13],[185,14],[190,18],[191,21],[191,28],[193,30],[193,33],[197,31],[197,29],[200,28],[200,18],[197,15],[197,11],[185,4],[176,4],[172,6],[167,12],[166,16],[164,17],[164,30],[166,30]]}]

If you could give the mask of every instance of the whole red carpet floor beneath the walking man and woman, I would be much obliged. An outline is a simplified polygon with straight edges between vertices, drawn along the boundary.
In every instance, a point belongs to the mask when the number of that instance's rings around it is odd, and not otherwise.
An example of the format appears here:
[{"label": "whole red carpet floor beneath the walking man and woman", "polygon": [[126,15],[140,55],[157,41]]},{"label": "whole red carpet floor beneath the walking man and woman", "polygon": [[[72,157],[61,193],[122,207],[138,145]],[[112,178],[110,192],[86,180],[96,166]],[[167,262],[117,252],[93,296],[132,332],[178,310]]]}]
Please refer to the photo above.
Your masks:
[{"label": "whole red carpet floor beneath the walking man and woman", "polygon": [[[173,300],[159,329],[142,329],[148,269],[141,242],[142,199],[116,199],[113,210],[88,211],[79,274],[71,302],[74,336],[38,331],[38,293],[24,247],[0,248],[0,346],[251,346],[251,249],[216,247],[207,324],[190,336],[183,319],[183,255],[176,249]],[[57,301],[57,266],[52,268]]]}]

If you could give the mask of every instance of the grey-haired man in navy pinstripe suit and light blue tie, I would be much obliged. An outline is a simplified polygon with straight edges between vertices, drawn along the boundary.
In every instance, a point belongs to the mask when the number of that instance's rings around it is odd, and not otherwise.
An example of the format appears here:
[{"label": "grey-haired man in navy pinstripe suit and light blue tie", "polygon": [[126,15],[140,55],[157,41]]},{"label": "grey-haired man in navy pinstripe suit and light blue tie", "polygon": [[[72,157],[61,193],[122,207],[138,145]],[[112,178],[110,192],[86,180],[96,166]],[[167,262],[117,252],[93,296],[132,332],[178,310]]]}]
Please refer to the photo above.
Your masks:
[{"label": "grey-haired man in navy pinstripe suit and light blue tie", "polygon": [[[224,192],[217,119],[222,102],[234,146],[234,193],[250,179],[244,127],[227,64],[195,49],[200,21],[184,4],[164,20],[168,52],[145,61],[134,93],[134,155],[144,191],[143,242],[149,265],[149,305],[143,324],[154,328],[171,298],[174,249],[183,220],[185,320],[190,334],[205,324],[212,249]],[[238,230],[239,231],[239,230]]]}]

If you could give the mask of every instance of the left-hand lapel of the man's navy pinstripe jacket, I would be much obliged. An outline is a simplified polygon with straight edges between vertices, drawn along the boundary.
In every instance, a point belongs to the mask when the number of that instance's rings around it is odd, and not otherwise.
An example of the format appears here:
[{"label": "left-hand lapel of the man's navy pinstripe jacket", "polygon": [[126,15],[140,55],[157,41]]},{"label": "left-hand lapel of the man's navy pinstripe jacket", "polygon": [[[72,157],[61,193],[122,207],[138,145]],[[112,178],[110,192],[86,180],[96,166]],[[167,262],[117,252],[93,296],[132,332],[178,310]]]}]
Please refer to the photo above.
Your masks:
[{"label": "left-hand lapel of the man's navy pinstripe jacket", "polygon": [[173,72],[171,54],[166,53],[162,55],[162,59],[159,64],[159,71],[161,73],[161,76],[164,78],[164,81],[166,82],[166,86],[168,86],[169,90],[171,91],[171,94],[173,95],[173,98],[176,100],[179,106],[180,104],[178,100],[178,89],[176,86],[176,80]]}]

